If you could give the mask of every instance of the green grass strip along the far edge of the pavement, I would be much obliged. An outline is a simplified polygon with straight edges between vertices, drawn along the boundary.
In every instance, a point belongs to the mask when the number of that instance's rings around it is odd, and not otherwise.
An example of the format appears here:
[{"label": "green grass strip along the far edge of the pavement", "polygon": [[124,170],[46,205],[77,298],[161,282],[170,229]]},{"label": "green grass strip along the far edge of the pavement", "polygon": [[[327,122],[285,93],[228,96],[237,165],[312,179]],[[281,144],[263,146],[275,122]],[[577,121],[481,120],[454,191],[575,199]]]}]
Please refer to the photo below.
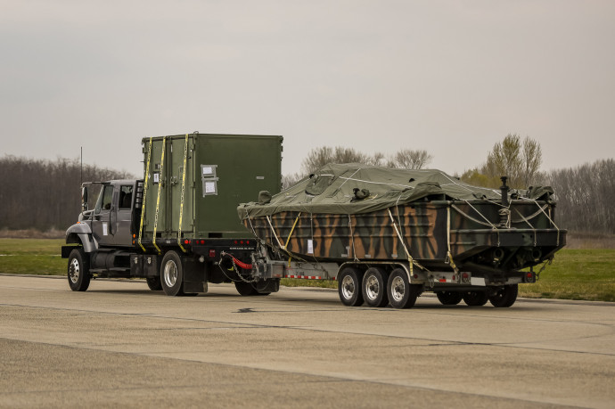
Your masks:
[{"label": "green grass strip along the far edge of the pavement", "polygon": [[[62,239],[0,239],[0,273],[64,275],[63,243]],[[337,288],[337,282],[290,278],[282,285]],[[615,302],[615,249],[562,249],[536,284],[521,284],[519,295]]]}]

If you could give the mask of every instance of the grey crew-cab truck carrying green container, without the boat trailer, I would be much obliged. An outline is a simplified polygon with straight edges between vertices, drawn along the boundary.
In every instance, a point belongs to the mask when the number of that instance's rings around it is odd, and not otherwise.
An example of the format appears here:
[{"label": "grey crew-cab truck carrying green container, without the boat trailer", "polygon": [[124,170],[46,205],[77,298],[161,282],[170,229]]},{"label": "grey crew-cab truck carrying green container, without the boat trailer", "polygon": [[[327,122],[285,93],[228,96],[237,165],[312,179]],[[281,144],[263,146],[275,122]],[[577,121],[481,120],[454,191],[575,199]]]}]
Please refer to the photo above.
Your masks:
[{"label": "grey crew-cab truck carrying green container, without the boat trailer", "polygon": [[[78,223],[66,231],[71,290],[95,278],[144,278],[168,296],[234,282],[242,295],[269,294],[279,278],[253,277],[256,240],[236,206],[280,192],[280,135],[168,135],[143,138],[143,178],[82,184]],[[94,209],[89,195],[100,188]]]}]

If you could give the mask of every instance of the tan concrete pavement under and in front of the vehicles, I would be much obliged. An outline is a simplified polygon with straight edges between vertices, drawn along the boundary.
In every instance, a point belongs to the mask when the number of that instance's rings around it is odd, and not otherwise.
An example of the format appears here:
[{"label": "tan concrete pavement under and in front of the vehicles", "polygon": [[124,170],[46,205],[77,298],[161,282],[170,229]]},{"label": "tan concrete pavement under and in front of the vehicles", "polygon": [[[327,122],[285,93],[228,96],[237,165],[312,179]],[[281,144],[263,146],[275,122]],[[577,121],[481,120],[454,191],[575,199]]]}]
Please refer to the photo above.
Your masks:
[{"label": "tan concrete pavement under and in front of the vehicles", "polygon": [[0,407],[615,407],[615,304],[0,275]]}]

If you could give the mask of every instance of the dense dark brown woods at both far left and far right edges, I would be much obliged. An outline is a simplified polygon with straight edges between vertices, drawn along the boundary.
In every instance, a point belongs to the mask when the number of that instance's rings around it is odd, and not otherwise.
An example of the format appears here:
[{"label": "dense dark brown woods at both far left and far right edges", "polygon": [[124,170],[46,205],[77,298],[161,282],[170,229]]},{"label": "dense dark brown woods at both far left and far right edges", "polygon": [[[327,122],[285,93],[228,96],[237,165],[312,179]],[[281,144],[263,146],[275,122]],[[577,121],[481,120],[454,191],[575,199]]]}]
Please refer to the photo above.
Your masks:
[{"label": "dense dark brown woods at both far left and far right edges", "polygon": [[[108,168],[83,167],[84,182],[131,177]],[[0,229],[63,230],[77,221],[81,209],[78,160],[4,156],[0,180]],[[537,180],[536,184],[553,186],[560,228],[615,234],[615,160],[541,173]]]}]

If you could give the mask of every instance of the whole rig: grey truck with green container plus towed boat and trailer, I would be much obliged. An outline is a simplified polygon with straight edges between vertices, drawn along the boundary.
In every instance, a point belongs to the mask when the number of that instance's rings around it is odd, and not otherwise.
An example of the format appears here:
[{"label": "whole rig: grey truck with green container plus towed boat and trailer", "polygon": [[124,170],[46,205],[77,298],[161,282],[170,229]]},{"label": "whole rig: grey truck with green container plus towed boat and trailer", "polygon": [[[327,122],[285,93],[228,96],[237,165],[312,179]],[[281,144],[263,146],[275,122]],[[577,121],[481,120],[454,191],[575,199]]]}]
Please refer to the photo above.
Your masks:
[{"label": "whole rig: grey truck with green container plus towed boat and trailer", "polygon": [[511,307],[518,285],[536,282],[566,244],[549,186],[511,190],[503,176],[498,190],[433,169],[329,164],[281,191],[282,143],[143,138],[142,179],[82,186],[61,249],[70,289],[141,277],[168,296],[209,282],[252,296],[299,278],[337,281],[348,307],[409,308],[426,291],[443,305]]}]

